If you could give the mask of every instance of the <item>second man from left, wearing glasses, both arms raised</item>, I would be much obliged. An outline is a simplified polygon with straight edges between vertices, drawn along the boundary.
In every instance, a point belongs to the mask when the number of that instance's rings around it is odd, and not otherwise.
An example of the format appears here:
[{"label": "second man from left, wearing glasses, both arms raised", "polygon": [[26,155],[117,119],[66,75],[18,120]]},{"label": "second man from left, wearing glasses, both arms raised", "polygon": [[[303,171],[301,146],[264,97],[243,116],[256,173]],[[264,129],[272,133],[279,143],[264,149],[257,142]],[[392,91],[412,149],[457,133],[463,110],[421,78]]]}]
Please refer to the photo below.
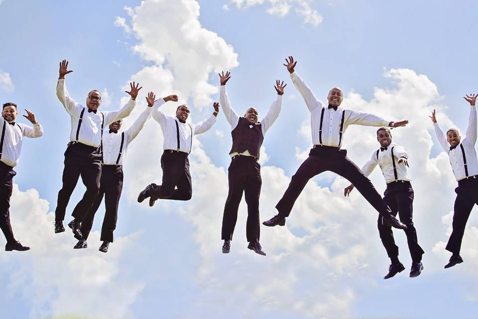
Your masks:
[{"label": "second man from left, wearing glasses, both arms raised", "polygon": [[128,116],[134,108],[135,99],[138,95],[138,85],[130,83],[131,90],[128,93],[131,99],[119,111],[98,112],[101,105],[101,93],[92,90],[86,98],[86,107],[75,102],[65,86],[65,75],[73,72],[68,70],[68,61],[60,62],[60,76],[56,86],[56,95],[71,117],[70,143],[65,151],[65,168],[63,169],[63,185],[58,192],[58,201],[55,210],[55,233],[65,231],[63,219],[65,219],[66,206],[75,189],[78,178],[81,175],[83,184],[86,186],[85,194],[73,210],[74,219],[68,224],[76,239],[80,240],[81,222],[85,214],[90,210],[98,196],[101,177],[101,140],[103,128]]}]

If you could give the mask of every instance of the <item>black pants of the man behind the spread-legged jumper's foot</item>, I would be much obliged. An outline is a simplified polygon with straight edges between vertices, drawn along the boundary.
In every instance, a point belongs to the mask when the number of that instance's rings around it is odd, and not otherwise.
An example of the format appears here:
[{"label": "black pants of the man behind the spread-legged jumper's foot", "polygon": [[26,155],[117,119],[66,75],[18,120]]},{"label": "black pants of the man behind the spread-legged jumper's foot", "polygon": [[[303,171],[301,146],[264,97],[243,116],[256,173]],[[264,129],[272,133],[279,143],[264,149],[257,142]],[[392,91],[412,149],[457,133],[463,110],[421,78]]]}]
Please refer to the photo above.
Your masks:
[{"label": "black pants of the man behind the spread-legged jumper's foot", "polygon": [[[422,255],[425,253],[418,245],[417,231],[413,226],[413,188],[409,181],[398,180],[387,184],[383,200],[392,210],[392,215],[398,217],[407,228],[404,229],[407,236],[408,249],[413,262],[422,261]],[[390,259],[398,259],[398,246],[393,239],[392,227],[384,224],[381,217],[378,217],[378,233],[382,240],[383,247],[387,251]]]}]

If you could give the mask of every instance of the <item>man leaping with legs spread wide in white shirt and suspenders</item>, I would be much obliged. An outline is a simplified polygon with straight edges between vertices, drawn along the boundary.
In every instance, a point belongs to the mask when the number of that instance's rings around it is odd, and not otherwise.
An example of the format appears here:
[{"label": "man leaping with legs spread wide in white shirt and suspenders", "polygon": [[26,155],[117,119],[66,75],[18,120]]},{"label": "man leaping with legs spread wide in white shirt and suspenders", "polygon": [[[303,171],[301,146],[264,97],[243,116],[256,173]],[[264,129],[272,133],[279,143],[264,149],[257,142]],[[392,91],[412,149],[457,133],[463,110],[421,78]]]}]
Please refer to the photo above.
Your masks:
[{"label": "man leaping with legs spread wide in white shirt and suspenders", "polygon": [[343,109],[340,107],[343,93],[339,88],[330,90],[327,97],[329,106],[327,107],[324,103],[317,100],[311,89],[299,77],[297,72],[294,72],[297,61],[294,62],[293,57],[289,56],[289,60],[286,59],[286,62],[287,64],[284,65],[290,73],[292,82],[304,98],[311,113],[312,142],[314,147],[309,153],[309,158],[300,165],[297,172],[292,176],[289,187],[275,206],[278,214],[270,220],[263,222],[263,224],[265,226],[284,226],[285,218],[289,216],[297,197],[299,197],[309,179],[323,171],[330,170],[352,182],[365,199],[383,217],[384,222],[395,228],[405,229],[406,226],[391,214],[390,208],[375,190],[370,180],[347,157],[347,150],[341,150],[340,148],[343,135],[349,125],[388,126],[395,128],[406,125],[408,121],[389,122],[376,115]]}]

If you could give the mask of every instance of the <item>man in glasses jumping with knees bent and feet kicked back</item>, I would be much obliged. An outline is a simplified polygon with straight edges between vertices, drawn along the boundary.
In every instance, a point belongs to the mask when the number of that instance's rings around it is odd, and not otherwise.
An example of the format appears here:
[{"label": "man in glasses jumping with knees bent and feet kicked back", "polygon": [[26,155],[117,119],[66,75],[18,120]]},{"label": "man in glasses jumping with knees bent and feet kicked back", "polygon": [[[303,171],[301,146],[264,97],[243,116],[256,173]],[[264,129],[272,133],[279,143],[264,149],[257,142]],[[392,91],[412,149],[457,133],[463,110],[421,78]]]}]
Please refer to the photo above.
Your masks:
[{"label": "man in glasses jumping with knees bent and feet kicked back", "polygon": [[149,198],[149,206],[157,199],[190,200],[192,196],[191,174],[189,172],[188,155],[193,145],[193,136],[208,131],[219,113],[219,103],[214,102],[214,113],[203,122],[196,125],[186,123],[189,117],[189,107],[180,105],[176,116],[164,114],[159,107],[168,101],[178,101],[177,95],[170,95],[154,103],[152,116],[161,126],[163,132],[163,155],[161,169],[163,177],[161,185],[151,183],[138,195],[138,202]]}]

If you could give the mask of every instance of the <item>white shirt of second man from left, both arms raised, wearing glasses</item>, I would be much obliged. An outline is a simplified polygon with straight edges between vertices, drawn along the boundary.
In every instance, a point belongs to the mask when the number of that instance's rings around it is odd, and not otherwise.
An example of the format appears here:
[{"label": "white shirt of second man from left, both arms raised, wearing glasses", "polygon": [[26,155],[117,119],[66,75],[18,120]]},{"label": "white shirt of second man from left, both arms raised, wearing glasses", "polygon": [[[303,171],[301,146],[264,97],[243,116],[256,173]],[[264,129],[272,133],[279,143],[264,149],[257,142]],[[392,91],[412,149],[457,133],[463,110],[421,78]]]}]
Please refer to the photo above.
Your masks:
[{"label": "white shirt of second man from left, both arms raised, wearing glasses", "polygon": [[[103,131],[108,129],[108,126],[113,122],[121,120],[122,118],[127,117],[134,108],[136,101],[129,99],[128,103],[121,108],[119,111],[98,111],[96,114],[93,112],[88,112],[88,107],[85,107],[73,100],[65,86],[65,79],[59,79],[56,86],[56,95],[58,99],[65,107],[65,110],[70,114],[71,117],[71,133],[70,133],[70,142],[78,141],[82,144],[99,147],[101,143],[101,124],[103,124]],[[76,132],[78,130],[78,122],[80,120],[80,114],[83,112],[83,119],[80,126],[80,133],[78,135],[78,140],[76,139]]]}]

